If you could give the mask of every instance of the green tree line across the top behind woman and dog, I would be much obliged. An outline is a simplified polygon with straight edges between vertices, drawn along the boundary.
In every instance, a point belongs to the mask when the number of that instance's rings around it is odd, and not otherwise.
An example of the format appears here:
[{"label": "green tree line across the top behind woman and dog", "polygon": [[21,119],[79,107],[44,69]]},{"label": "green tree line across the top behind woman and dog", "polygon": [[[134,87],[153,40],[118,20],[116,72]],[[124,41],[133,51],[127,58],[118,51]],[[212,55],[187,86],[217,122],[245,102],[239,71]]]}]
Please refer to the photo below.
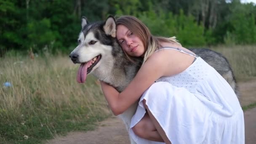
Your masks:
[{"label": "green tree line across the top behind woman and dog", "polygon": [[240,0],[0,0],[0,55],[71,51],[81,17],[133,15],[154,35],[188,47],[256,44],[256,5]]}]

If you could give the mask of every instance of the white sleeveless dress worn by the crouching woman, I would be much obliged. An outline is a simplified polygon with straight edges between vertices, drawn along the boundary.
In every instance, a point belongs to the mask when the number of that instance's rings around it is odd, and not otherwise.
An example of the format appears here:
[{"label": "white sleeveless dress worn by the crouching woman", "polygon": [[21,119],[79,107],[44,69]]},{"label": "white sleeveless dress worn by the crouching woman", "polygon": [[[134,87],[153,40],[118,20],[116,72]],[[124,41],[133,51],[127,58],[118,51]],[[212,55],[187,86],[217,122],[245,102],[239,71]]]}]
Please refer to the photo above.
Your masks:
[{"label": "white sleeveless dress worn by the crouching woman", "polygon": [[146,113],[144,99],[172,144],[245,143],[244,115],[235,92],[200,57],[183,72],[158,79],[141,96],[132,117],[129,133],[137,144],[163,144],[133,133]]}]

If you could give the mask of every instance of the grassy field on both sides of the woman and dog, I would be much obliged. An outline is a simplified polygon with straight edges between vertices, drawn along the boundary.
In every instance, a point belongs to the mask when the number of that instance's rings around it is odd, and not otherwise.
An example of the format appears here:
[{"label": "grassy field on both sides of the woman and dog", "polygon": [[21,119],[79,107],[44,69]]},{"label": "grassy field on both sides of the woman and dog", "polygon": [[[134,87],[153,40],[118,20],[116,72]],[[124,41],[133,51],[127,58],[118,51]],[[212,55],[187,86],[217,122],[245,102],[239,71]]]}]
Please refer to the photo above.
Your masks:
[{"label": "grassy field on both sides of the woman and dog", "polygon": [[[255,46],[212,49],[227,57],[238,82],[256,78]],[[56,134],[93,130],[111,115],[98,81],[88,76],[78,84],[79,66],[68,55],[7,53],[0,61],[0,143],[38,144]]]}]

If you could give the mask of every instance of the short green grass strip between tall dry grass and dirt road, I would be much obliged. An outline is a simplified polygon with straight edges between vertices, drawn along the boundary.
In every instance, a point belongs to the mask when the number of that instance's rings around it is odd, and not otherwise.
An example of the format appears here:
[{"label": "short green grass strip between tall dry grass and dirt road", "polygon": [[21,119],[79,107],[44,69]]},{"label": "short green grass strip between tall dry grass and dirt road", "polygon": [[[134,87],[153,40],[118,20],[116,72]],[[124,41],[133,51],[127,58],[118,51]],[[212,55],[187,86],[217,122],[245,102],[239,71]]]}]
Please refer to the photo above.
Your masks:
[{"label": "short green grass strip between tall dry grass and dirt road", "polygon": [[[52,139],[56,134],[93,130],[95,122],[105,117],[106,115],[91,115],[88,109],[69,107],[61,110],[45,109],[45,113],[42,110],[29,112],[21,117],[13,117],[12,121],[1,121],[0,140],[13,144],[38,144],[41,140]],[[29,137],[25,139],[24,136]]]}]

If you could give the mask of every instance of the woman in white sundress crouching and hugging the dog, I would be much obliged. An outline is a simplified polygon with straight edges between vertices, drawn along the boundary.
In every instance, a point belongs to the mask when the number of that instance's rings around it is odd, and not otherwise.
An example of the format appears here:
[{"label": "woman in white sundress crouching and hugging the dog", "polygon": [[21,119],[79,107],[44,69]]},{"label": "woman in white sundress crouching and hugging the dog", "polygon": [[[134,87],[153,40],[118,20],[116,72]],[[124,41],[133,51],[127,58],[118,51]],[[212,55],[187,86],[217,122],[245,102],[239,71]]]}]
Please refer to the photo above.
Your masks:
[{"label": "woman in white sundress crouching and hugging the dog", "polygon": [[116,24],[123,51],[144,62],[123,92],[103,82],[101,88],[115,115],[140,99],[129,130],[136,143],[244,144],[243,111],[215,69],[175,37],[151,35],[133,16]]}]

